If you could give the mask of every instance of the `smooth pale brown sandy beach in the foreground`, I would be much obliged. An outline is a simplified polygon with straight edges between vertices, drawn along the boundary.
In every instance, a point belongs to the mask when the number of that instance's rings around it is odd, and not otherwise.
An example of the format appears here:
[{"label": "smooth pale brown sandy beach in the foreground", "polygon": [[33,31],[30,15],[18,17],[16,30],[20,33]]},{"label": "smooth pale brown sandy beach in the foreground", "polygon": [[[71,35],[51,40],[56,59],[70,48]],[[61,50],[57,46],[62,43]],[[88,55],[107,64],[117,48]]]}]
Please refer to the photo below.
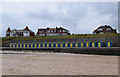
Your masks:
[{"label": "smooth pale brown sandy beach in the foreground", "polygon": [[43,52],[4,54],[2,74],[118,75],[118,56]]}]

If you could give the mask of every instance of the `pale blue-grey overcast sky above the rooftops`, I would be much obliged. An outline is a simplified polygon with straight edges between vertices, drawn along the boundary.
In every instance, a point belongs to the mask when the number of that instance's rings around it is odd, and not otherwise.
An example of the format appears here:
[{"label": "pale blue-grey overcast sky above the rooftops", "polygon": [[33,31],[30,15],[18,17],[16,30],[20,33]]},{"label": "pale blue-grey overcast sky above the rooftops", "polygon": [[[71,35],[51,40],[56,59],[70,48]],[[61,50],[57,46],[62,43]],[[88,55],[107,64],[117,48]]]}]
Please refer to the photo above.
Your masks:
[{"label": "pale blue-grey overcast sky above the rooftops", "polygon": [[[76,26],[75,26],[76,24]],[[70,33],[89,34],[101,25],[118,29],[117,2],[5,2],[2,6],[2,36],[8,27],[35,33],[38,28],[64,27]]]}]

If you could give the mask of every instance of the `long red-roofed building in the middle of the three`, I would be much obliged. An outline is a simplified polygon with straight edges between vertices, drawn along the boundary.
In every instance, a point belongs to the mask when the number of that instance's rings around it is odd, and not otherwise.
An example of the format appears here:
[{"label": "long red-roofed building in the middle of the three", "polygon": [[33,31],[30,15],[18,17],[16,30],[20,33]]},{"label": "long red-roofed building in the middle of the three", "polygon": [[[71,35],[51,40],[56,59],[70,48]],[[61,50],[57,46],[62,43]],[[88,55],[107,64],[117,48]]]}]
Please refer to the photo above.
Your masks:
[{"label": "long red-roofed building in the middle of the three", "polygon": [[36,34],[37,36],[59,36],[59,35],[70,35],[67,29],[62,27],[56,28],[45,28],[45,29],[38,29]]}]

